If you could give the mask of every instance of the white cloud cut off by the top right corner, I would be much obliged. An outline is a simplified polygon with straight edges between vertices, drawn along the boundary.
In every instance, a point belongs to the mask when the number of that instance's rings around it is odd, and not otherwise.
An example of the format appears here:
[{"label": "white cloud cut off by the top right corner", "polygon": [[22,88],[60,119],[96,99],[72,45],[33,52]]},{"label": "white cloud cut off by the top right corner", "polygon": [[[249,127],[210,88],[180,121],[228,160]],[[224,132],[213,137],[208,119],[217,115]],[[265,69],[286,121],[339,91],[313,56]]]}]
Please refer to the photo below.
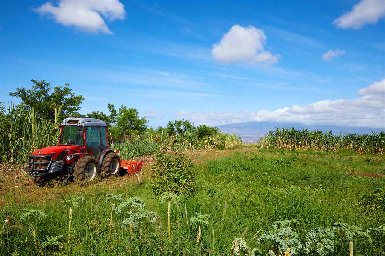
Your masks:
[{"label": "white cloud cut off by the top right corner", "polygon": [[362,28],[366,24],[375,24],[385,16],[384,0],[361,0],[353,5],[350,12],[342,14],[334,20],[338,28]]}]

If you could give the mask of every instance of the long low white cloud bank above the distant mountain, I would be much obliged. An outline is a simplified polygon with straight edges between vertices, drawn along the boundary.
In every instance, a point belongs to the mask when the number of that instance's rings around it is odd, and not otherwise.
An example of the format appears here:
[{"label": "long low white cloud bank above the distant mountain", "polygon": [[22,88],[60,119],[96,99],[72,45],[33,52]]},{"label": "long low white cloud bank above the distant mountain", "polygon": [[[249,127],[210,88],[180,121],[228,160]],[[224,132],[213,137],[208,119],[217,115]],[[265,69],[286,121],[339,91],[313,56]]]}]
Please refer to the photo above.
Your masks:
[{"label": "long low white cloud bank above the distant mountain", "polygon": [[321,100],[307,106],[294,105],[275,111],[257,112],[179,111],[176,115],[197,125],[224,125],[248,121],[300,122],[385,128],[385,79],[357,91],[361,97],[349,100]]}]

